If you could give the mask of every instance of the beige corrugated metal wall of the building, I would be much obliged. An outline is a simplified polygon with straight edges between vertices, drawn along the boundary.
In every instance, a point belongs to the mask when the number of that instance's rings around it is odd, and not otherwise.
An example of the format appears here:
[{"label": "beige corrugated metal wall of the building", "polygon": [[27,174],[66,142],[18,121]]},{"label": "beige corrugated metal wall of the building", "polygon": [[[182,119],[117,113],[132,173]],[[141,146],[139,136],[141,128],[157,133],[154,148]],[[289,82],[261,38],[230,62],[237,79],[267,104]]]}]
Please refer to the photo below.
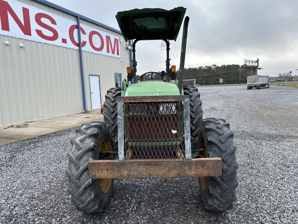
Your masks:
[{"label": "beige corrugated metal wall of the building", "polygon": [[[21,2],[76,21],[72,15],[35,1]],[[84,20],[81,23],[121,36]],[[4,41],[10,45],[4,45]],[[0,126],[83,112],[78,50],[3,35],[0,43]],[[19,43],[25,47],[20,48]],[[100,75],[102,103],[106,90],[115,86],[114,73],[125,77],[130,61],[123,37],[119,46],[122,62],[119,58],[83,51],[88,110],[91,110],[89,74]]]}]

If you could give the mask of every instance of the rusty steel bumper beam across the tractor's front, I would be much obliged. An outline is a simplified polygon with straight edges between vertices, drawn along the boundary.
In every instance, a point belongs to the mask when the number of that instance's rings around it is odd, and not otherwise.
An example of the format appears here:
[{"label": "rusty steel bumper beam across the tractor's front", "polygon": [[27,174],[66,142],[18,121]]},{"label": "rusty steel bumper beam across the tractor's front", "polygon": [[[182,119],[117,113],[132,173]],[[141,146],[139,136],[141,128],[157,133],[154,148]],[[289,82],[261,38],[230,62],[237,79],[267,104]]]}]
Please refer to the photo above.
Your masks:
[{"label": "rusty steel bumper beam across the tractor's front", "polygon": [[158,178],[221,176],[221,158],[90,160],[89,177]]}]

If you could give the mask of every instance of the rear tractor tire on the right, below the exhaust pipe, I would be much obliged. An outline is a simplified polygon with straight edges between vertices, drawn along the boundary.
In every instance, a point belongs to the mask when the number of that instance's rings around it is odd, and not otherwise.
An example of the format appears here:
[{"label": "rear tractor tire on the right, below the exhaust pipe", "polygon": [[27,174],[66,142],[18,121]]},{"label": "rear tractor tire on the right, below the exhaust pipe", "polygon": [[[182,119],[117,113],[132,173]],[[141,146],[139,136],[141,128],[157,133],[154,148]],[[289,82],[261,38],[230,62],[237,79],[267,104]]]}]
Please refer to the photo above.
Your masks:
[{"label": "rear tractor tire on the right, below the exhaust pipe", "polygon": [[189,96],[191,149],[198,149],[200,122],[203,118],[200,93],[195,86],[183,86],[184,95]]}]

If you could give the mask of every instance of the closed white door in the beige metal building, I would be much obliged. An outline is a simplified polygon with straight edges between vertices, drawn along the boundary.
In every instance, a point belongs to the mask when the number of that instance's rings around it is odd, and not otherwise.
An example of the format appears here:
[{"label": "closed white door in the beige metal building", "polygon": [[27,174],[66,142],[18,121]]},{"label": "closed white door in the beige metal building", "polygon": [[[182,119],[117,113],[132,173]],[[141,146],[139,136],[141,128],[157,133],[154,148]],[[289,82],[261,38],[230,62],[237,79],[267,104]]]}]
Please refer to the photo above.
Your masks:
[{"label": "closed white door in the beige metal building", "polygon": [[99,75],[89,75],[91,109],[101,108],[100,79]]}]

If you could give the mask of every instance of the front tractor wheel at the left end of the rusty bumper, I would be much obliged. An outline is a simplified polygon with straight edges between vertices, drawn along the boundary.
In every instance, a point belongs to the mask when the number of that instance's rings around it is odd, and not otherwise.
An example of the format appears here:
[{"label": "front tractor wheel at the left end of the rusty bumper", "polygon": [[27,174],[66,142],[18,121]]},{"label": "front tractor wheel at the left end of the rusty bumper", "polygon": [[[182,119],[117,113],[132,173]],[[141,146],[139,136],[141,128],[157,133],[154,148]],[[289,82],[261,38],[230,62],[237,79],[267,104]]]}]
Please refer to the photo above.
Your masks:
[{"label": "front tractor wheel at the left end of the rusty bumper", "polygon": [[107,159],[106,151],[112,150],[111,133],[104,122],[91,122],[76,130],[71,139],[71,150],[66,176],[67,191],[77,210],[100,212],[108,205],[113,191],[113,179],[90,179],[89,160]]}]

